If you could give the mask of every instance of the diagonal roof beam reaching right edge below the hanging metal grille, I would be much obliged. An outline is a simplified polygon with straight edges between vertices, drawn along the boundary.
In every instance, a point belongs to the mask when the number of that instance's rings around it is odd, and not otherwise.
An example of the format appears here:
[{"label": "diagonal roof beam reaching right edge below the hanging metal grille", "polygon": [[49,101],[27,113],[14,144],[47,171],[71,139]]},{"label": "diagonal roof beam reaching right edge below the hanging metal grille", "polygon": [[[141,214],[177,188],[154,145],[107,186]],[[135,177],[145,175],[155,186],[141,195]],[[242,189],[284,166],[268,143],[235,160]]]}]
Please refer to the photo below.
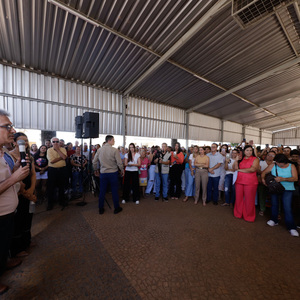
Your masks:
[{"label": "diagonal roof beam reaching right edge below the hanging metal grille", "polygon": [[[234,92],[236,92],[238,90],[241,90],[241,89],[243,89],[243,88],[245,88],[245,87],[247,87],[247,86],[249,86],[251,84],[254,84],[254,83],[258,82],[258,81],[261,81],[261,80],[263,80],[263,79],[265,79],[265,78],[273,75],[276,72],[279,72],[279,71],[285,70],[287,68],[290,68],[290,67],[292,67],[292,66],[294,66],[294,65],[296,65],[298,63],[300,63],[300,57],[297,57],[295,59],[289,60],[289,61],[283,63],[282,65],[280,65],[280,66],[278,66],[276,68],[273,68],[273,69],[271,69],[271,70],[269,70],[267,72],[264,72],[264,73],[260,74],[257,77],[254,77],[254,78],[252,78],[250,80],[247,80],[244,83],[239,84],[239,85],[237,85],[237,86],[235,86],[235,87],[227,90],[226,92],[223,92],[223,93],[221,93],[221,94],[219,94],[217,96],[214,96],[214,97],[212,97],[212,98],[210,98],[210,99],[208,99],[208,100],[206,100],[206,101],[204,101],[204,102],[202,102],[200,104],[197,104],[197,105],[189,108],[187,110],[187,112],[192,112],[192,111],[194,111],[196,109],[199,109],[200,107],[203,107],[203,106],[205,106],[207,104],[215,102],[215,101],[217,101],[217,100],[219,100],[219,99],[221,99],[223,97],[226,97],[226,96],[228,96],[228,95],[230,95],[230,94],[232,94],[232,93],[234,93]],[[255,106],[257,106],[257,104],[255,104]],[[268,114],[273,114],[273,113],[271,113],[270,111],[268,111],[266,109],[263,109],[263,110],[265,110]]]}]

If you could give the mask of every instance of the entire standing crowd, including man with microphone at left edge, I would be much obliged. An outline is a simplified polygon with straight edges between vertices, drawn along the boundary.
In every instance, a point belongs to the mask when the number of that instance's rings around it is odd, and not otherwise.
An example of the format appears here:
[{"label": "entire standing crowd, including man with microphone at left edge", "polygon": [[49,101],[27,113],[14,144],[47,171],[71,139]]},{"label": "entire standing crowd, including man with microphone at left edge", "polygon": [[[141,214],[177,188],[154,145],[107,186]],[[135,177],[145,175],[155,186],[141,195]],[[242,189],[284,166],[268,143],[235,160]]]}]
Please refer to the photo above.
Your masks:
[{"label": "entire standing crowd, including man with microphone at left edge", "polygon": [[[233,209],[235,218],[254,222],[256,211],[264,216],[271,207],[269,226],[278,225],[284,212],[287,229],[299,236],[294,221],[300,222],[299,173],[300,152],[290,147],[266,145],[260,149],[253,141],[243,140],[238,146],[212,143],[193,145],[188,149],[176,143],[174,148],[160,146],[128,149],[113,147],[114,137],[92,146],[65,144],[53,137],[37,147],[29,145],[27,136],[16,132],[9,114],[0,110],[0,276],[21,264],[33,245],[31,224],[35,203],[47,203],[52,210],[58,202],[68,205],[67,194],[80,198],[84,181],[93,176],[99,191],[99,214],[104,213],[108,187],[114,203],[114,213],[122,211],[121,203],[153,195],[154,201],[167,203],[191,199],[195,205],[221,204]],[[20,141],[25,144],[25,164],[21,166]],[[24,158],[24,157],[23,157]],[[266,175],[274,175],[283,186],[281,193],[270,193]],[[119,199],[119,188],[122,198]],[[300,225],[300,223],[297,223]],[[8,259],[9,258],[9,259]],[[7,286],[0,283],[0,295]]]}]

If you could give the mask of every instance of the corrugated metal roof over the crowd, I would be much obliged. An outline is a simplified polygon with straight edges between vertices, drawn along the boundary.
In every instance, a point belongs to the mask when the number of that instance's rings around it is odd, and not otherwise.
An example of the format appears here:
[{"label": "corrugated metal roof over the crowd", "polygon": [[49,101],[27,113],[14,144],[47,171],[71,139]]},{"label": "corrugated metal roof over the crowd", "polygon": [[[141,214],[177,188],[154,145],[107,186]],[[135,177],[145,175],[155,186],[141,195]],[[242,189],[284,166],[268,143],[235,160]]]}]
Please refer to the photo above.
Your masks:
[{"label": "corrugated metal roof over the crowd", "polygon": [[[3,63],[120,93],[218,3],[55,1],[66,9],[46,0],[0,2]],[[269,130],[298,124],[300,114],[297,118],[284,110],[292,109],[285,101],[300,94],[299,64],[260,78],[266,71],[297,59],[278,19],[273,15],[242,30],[231,16],[229,3],[212,14],[188,42],[182,43],[131,94],[182,109],[196,107],[197,112],[235,122],[255,122]],[[293,22],[297,20],[293,18]],[[295,24],[297,28],[298,25]],[[253,78],[257,82],[237,89],[236,94],[217,97]],[[213,97],[216,100],[205,104]],[[272,105],[277,99],[280,104]],[[203,105],[197,108],[199,104]],[[299,106],[294,108],[299,112]]]}]

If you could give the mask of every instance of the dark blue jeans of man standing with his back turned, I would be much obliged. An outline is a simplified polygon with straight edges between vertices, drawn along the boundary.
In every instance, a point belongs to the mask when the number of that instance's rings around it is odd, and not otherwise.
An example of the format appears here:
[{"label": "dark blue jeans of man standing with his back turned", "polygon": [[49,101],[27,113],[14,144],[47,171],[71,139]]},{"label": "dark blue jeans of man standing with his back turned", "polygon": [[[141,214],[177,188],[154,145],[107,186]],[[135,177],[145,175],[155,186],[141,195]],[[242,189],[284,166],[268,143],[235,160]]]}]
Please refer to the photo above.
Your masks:
[{"label": "dark blue jeans of man standing with his back turned", "polygon": [[114,202],[114,208],[118,208],[119,204],[119,181],[118,181],[118,172],[114,173],[100,173],[100,193],[99,193],[99,208],[103,208],[105,194],[108,184],[111,187],[111,193]]}]

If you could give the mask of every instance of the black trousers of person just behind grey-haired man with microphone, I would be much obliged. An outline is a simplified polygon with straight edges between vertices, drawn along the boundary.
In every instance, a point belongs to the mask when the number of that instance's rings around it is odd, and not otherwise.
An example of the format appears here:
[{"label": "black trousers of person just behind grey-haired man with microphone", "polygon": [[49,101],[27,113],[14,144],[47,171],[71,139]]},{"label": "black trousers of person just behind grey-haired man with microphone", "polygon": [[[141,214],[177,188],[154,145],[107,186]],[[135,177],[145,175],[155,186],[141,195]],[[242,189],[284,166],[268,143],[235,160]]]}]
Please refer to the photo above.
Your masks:
[{"label": "black trousers of person just behind grey-haired man with microphone", "polygon": [[33,214],[29,213],[29,202],[24,196],[19,196],[19,204],[14,216],[14,234],[10,246],[12,257],[30,246]]}]

